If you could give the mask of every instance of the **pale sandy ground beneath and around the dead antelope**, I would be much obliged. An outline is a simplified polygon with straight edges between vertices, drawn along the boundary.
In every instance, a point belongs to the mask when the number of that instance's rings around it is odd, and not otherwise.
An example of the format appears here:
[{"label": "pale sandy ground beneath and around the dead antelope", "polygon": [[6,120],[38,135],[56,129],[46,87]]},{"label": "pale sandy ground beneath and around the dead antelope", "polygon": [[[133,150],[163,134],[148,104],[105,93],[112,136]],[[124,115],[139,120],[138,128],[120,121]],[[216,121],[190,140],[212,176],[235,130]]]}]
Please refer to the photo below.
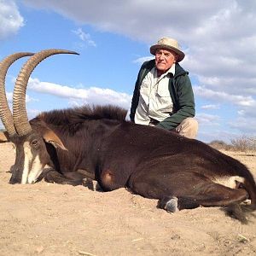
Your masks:
[{"label": "pale sandy ground beneath and around the dead antelope", "polygon": [[[227,153],[256,177],[256,152]],[[125,189],[9,184],[15,155],[0,144],[0,255],[256,255],[256,219],[218,207],[174,214]]]}]

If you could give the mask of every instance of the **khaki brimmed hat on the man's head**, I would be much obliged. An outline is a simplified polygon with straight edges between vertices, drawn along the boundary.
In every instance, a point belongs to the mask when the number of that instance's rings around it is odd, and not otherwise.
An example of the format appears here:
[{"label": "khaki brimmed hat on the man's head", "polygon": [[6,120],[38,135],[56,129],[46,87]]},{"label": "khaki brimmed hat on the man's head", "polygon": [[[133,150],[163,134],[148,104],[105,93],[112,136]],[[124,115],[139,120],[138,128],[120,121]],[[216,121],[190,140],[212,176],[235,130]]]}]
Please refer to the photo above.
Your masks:
[{"label": "khaki brimmed hat on the man's head", "polygon": [[157,42],[157,44],[154,44],[150,47],[150,53],[152,55],[155,55],[155,51],[157,49],[170,49],[177,53],[177,62],[182,61],[185,54],[180,49],[177,40],[172,38],[160,38],[160,40]]}]

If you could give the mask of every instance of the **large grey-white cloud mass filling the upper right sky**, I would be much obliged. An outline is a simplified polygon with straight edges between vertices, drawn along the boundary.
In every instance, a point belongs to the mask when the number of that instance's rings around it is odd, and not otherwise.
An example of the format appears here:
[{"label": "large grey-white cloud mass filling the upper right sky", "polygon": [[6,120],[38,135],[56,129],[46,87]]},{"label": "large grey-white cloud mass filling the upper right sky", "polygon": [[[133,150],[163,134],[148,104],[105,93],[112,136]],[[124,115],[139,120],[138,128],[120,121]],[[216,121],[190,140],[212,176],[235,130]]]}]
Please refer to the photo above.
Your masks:
[{"label": "large grey-white cloud mass filling the upper right sky", "polygon": [[[23,3],[147,45],[162,36],[177,38],[186,53],[182,65],[196,76],[201,86],[226,94],[255,97],[254,0],[194,0],[193,3],[185,0],[157,3],[153,0],[23,0]],[[136,62],[139,61],[143,58]]]}]

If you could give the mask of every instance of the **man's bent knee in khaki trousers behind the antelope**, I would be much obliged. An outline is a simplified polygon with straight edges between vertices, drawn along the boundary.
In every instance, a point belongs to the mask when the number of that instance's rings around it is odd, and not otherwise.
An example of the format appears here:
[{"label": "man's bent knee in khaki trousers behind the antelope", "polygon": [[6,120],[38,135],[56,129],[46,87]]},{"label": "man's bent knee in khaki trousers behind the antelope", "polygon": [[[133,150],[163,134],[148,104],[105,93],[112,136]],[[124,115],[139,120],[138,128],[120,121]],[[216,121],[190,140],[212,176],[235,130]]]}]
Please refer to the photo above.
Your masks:
[{"label": "man's bent knee in khaki trousers behind the antelope", "polygon": [[195,138],[198,131],[198,122],[195,118],[183,119],[180,125],[177,125],[176,131],[183,137]]}]

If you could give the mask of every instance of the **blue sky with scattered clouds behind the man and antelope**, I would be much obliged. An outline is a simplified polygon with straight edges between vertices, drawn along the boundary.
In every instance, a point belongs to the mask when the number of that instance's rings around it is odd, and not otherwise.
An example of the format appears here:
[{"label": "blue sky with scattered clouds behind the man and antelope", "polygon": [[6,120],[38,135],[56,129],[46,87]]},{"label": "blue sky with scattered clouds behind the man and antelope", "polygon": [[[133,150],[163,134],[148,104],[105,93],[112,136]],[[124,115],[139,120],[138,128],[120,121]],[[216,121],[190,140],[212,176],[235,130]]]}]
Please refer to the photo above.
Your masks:
[{"label": "blue sky with scattered clouds behind the man and antelope", "polygon": [[[186,54],[204,142],[256,137],[256,1],[0,0],[0,59],[18,51],[71,49],[32,73],[29,118],[84,103],[130,110],[137,72],[149,47],[176,38]],[[26,58],[9,68],[9,103]],[[3,128],[0,123],[0,128]]]}]

